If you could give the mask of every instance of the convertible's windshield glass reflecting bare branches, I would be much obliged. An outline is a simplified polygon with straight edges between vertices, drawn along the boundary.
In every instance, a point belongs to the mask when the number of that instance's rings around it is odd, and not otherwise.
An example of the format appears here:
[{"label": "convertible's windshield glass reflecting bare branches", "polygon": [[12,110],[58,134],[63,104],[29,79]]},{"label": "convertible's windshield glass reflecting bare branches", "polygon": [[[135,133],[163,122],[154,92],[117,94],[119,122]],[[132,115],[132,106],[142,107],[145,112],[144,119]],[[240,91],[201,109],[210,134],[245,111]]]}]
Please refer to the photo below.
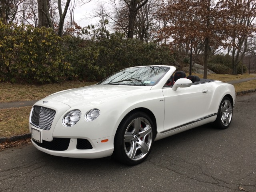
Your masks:
[{"label": "convertible's windshield glass reflecting bare branches", "polygon": [[169,69],[160,66],[127,68],[109,76],[98,84],[153,86],[160,81]]}]

